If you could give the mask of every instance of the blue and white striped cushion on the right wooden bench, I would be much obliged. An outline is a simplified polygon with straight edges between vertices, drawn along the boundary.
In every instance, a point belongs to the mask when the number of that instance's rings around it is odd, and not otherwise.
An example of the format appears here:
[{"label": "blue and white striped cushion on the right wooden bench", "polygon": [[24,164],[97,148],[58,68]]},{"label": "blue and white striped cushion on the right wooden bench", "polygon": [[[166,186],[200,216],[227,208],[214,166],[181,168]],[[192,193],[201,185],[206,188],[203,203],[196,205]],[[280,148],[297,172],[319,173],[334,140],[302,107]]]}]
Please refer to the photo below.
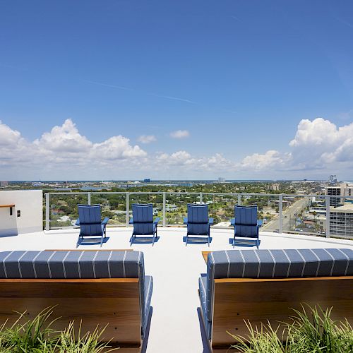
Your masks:
[{"label": "blue and white striped cushion on the right wooden bench", "polygon": [[206,316],[212,321],[216,278],[352,276],[352,249],[231,250],[208,254]]}]

